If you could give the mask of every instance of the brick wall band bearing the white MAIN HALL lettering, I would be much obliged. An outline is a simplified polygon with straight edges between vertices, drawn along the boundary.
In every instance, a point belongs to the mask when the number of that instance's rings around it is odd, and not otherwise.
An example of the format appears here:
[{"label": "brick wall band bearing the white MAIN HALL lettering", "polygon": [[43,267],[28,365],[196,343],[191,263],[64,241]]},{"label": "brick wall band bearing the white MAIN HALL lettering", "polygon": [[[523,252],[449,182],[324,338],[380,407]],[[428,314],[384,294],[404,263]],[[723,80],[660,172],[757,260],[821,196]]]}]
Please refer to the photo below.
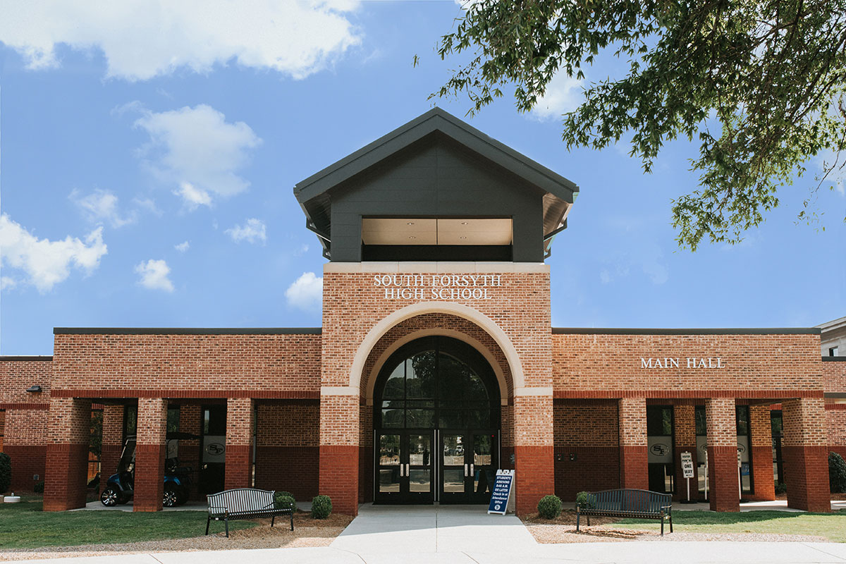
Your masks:
[{"label": "brick wall band bearing the white MAIN HALL lettering", "polygon": [[[556,397],[821,396],[817,335],[555,334]],[[688,368],[717,358],[724,368]],[[642,368],[641,359],[678,359],[678,368]],[[655,363],[653,362],[653,366]],[[718,393],[717,393],[718,392]]]}]

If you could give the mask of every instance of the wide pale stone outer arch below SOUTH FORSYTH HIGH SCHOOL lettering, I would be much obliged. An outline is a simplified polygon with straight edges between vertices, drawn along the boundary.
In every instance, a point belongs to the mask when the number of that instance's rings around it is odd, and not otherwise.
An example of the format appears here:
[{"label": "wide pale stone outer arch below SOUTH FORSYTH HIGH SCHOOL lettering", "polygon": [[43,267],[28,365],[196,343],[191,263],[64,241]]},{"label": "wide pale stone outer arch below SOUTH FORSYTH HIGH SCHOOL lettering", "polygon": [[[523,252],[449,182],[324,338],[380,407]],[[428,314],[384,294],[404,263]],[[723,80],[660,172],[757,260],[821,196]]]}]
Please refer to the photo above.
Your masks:
[{"label": "wide pale stone outer arch below SOUTH FORSYTH HIGH SCHOOL lettering", "polygon": [[[497,347],[500,348],[505,356],[505,360],[508,364],[508,370],[511,373],[512,395],[517,395],[519,391],[522,391],[525,387],[523,364],[520,362],[519,354],[514,348],[514,344],[505,334],[505,331],[503,331],[500,326],[497,326],[497,323],[494,320],[476,309],[463,304],[453,304],[448,302],[422,302],[420,304],[412,304],[404,307],[403,309],[398,309],[391,315],[387,315],[387,317],[379,320],[379,322],[367,332],[367,335],[355,351],[353,363],[349,371],[349,387],[354,390],[364,391],[362,378],[366,376],[369,380],[372,380],[370,378],[371,374],[365,370],[367,359],[370,357],[373,348],[376,347],[376,344],[387,334],[388,331],[390,331],[394,326],[402,323],[404,320],[409,320],[413,317],[426,314],[455,315],[456,317],[468,320],[475,326],[480,327],[482,331],[493,339],[493,341],[497,344]],[[420,337],[422,337],[422,335],[420,335]],[[467,336],[464,336],[462,340],[467,342]],[[482,347],[481,351],[485,348],[486,347]],[[498,364],[499,363],[492,363],[495,370]],[[497,375],[497,380],[498,379],[499,375]],[[500,386],[502,386],[502,383]],[[508,394],[503,395],[503,397],[508,397]]]}]

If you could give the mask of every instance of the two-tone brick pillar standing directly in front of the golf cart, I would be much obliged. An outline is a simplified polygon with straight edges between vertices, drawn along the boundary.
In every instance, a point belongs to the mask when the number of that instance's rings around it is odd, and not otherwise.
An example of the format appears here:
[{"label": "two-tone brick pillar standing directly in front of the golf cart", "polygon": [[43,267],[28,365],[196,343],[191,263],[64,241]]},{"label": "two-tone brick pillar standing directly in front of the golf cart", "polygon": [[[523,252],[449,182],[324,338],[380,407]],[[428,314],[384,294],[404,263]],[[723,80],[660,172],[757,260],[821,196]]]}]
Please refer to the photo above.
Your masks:
[{"label": "two-tone brick pillar standing directly in front of the golf cart", "polygon": [[139,397],[133,511],[162,511],[167,432],[168,400],[162,397]]}]

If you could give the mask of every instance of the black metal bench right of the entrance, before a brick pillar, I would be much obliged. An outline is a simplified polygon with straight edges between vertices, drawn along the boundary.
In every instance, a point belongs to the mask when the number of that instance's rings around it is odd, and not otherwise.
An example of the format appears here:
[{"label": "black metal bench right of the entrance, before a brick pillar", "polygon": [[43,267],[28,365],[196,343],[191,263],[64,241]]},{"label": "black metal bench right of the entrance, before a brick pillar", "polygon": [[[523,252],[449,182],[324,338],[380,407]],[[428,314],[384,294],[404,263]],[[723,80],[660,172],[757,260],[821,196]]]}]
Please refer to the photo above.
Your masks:
[{"label": "black metal bench right of the entrance, before a brick pillar", "polygon": [[580,517],[629,517],[634,519],[661,519],[661,534],[664,521],[669,519],[670,533],[673,532],[673,502],[669,494],[649,490],[604,490],[592,491],[584,504],[576,504],[576,530]]}]

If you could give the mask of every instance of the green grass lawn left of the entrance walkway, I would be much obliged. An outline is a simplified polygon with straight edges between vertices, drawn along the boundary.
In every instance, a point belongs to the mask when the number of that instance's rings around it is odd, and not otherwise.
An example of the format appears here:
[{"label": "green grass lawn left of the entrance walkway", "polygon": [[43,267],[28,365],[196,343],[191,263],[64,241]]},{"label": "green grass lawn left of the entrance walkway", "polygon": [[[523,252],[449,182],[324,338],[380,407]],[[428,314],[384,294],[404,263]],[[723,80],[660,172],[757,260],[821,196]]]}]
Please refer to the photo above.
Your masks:
[{"label": "green grass lawn left of the entrance walkway", "polygon": [[[184,539],[206,533],[206,516],[204,511],[42,512],[41,498],[25,498],[20,503],[0,503],[0,551],[41,546]],[[255,525],[250,521],[234,521],[229,523],[229,528],[250,528]],[[210,533],[222,530],[222,522],[211,523]]]}]

